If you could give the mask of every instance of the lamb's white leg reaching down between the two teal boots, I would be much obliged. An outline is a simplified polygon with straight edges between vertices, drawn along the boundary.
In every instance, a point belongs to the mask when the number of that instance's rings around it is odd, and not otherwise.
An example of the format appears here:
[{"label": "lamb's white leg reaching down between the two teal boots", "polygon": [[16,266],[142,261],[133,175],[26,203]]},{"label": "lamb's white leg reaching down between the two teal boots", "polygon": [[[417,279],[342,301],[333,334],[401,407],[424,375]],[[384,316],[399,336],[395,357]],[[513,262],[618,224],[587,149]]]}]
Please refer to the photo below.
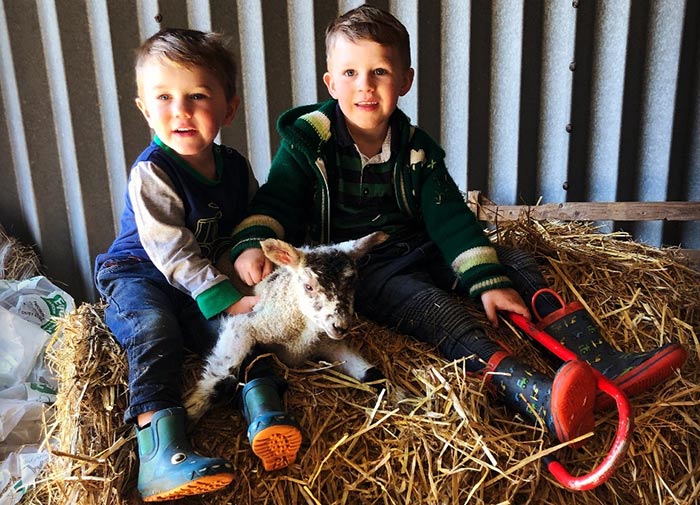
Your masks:
[{"label": "lamb's white leg reaching down between the two teal boots", "polygon": [[232,389],[232,382],[237,383],[236,372],[253,348],[253,337],[245,328],[236,324],[236,317],[222,322],[219,339],[207,357],[202,376],[185,400],[187,414],[193,422],[204,415],[220,393]]}]

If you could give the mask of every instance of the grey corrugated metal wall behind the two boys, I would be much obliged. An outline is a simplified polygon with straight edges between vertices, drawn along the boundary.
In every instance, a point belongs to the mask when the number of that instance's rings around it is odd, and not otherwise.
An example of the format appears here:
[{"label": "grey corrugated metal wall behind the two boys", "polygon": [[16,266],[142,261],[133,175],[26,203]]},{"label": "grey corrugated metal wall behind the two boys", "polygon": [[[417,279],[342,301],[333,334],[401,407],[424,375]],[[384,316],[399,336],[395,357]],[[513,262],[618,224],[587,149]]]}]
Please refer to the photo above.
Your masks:
[{"label": "grey corrugated metal wall behind the two boys", "polygon": [[[285,109],[327,97],[323,30],[354,1],[1,0],[0,223],[93,299],[127,167],[149,140],[132,53],[159,26],[229,34],[243,107],[222,141],[264,180]],[[459,186],[501,204],[700,201],[700,2],[394,0],[417,78],[400,105]],[[624,223],[700,248],[698,223]]]}]

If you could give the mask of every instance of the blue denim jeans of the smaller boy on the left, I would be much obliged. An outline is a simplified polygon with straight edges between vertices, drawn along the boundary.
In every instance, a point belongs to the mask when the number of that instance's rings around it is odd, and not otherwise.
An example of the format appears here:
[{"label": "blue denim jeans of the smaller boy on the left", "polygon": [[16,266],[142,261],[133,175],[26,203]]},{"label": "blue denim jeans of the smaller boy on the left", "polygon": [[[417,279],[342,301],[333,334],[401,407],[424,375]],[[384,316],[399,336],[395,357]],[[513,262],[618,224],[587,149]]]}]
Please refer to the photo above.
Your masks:
[{"label": "blue denim jeans of the smaller boy on the left", "polygon": [[[134,422],[144,412],[182,406],[185,350],[206,355],[216,342],[220,318],[207,320],[194,299],[171,286],[150,261],[107,261],[95,280],[108,302],[105,322],[129,365],[124,419]],[[264,367],[261,361],[258,369]],[[272,370],[258,375],[272,375]]]}]

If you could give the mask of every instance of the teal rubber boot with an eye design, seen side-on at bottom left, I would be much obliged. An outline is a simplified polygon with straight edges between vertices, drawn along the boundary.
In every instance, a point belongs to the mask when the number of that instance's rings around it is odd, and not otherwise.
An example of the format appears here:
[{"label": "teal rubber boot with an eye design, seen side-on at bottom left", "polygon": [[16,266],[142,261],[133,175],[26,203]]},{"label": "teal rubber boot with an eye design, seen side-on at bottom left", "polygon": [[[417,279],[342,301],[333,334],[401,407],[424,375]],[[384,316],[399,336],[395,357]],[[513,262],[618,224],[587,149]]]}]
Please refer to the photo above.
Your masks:
[{"label": "teal rubber boot with an eye design, seen side-on at bottom left", "polygon": [[185,418],[183,408],[159,410],[150,424],[137,429],[138,490],[144,501],[208,493],[233,480],[228,461],[205,458],[192,450],[185,435]]}]

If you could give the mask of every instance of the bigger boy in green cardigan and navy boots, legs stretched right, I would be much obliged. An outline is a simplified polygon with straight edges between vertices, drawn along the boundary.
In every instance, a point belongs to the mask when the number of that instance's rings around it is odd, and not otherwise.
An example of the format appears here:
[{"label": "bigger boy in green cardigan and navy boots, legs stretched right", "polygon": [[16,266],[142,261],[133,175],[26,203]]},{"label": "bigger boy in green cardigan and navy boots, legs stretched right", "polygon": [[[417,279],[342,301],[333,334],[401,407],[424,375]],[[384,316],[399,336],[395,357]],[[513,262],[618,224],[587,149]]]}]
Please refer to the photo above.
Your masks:
[{"label": "bigger boy in green cardigan and navy boots, legs stretched right", "polygon": [[594,427],[591,367],[569,361],[553,377],[532,370],[487,337],[458,295],[480,301],[493,325],[499,311],[530,318],[523,300],[535,298],[550,333],[628,394],[682,365],[686,351],[678,344],[621,353],[579,307],[562,306],[550,293],[535,297],[546,283],[534,259],[488,240],[443,150],[398,109],[414,71],[408,33],[394,16],[363,5],[335,19],[326,58],[323,82],[333,99],[280,117],[282,142],[268,180],[237,227],[231,256],[241,278],[258,282],[268,268],[257,249],[262,238],[324,243],[389,233],[361,262],[358,313],[434,345],[447,359],[464,359],[506,405],[544,421],[561,442]]}]

